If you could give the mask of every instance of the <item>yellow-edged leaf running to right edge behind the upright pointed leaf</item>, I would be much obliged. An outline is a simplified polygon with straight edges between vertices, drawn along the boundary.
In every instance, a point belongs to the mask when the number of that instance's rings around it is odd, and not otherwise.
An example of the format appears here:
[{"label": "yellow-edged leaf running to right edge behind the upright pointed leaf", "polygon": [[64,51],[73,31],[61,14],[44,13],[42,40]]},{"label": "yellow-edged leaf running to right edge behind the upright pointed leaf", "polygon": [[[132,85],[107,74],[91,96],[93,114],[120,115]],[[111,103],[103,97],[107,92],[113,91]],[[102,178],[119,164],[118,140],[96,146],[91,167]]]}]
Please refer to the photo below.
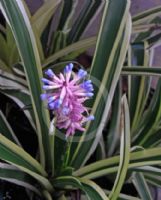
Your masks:
[{"label": "yellow-edged leaf running to right edge behind the upright pointed leaf", "polygon": [[[160,164],[160,151],[161,148],[158,147],[130,153],[129,169],[135,170],[136,167]],[[85,178],[97,178],[110,173],[116,173],[118,164],[119,156],[113,156],[82,167],[73,172],[73,175]]]}]

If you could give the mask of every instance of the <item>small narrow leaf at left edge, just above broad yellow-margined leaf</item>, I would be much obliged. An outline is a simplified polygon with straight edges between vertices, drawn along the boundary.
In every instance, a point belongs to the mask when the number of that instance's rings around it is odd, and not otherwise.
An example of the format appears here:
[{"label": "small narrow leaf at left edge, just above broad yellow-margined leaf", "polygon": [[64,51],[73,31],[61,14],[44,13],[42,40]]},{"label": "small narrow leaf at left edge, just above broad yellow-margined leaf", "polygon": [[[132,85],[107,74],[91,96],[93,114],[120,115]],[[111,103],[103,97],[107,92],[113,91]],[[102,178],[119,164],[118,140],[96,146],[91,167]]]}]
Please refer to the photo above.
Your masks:
[{"label": "small narrow leaf at left edge, just above broad yellow-margined leaf", "polygon": [[11,126],[9,125],[6,117],[4,116],[1,110],[0,110],[0,132],[3,133],[3,135],[7,137],[9,140],[21,146],[20,142],[17,139],[17,136],[13,132]]}]

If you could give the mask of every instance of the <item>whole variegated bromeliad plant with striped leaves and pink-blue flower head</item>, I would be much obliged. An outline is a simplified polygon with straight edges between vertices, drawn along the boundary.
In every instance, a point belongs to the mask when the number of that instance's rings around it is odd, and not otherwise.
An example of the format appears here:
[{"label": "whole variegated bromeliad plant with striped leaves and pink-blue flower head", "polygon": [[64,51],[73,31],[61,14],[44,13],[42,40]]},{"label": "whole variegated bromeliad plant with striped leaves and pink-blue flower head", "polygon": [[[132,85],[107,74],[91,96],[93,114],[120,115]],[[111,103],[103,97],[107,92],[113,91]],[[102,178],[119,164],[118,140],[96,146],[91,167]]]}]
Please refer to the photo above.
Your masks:
[{"label": "whole variegated bromeliad plant with striped leaves and pink-blue flower head", "polygon": [[[131,20],[128,0],[88,0],[71,23],[76,4],[45,1],[31,16],[23,1],[0,0],[7,22],[0,25],[0,91],[23,108],[38,141],[38,154],[32,157],[0,112],[0,178],[40,199],[152,199],[147,182],[161,185],[161,84],[149,99],[150,75],[161,73],[148,66],[159,44],[152,25],[160,23],[161,8]],[[97,41],[79,40],[101,5]],[[61,15],[53,31],[56,9]],[[88,77],[69,60],[95,43]],[[64,72],[63,61],[68,61]],[[124,87],[121,74],[128,75]],[[100,177],[112,187],[99,183]],[[120,193],[124,183],[132,183],[137,196]]]}]

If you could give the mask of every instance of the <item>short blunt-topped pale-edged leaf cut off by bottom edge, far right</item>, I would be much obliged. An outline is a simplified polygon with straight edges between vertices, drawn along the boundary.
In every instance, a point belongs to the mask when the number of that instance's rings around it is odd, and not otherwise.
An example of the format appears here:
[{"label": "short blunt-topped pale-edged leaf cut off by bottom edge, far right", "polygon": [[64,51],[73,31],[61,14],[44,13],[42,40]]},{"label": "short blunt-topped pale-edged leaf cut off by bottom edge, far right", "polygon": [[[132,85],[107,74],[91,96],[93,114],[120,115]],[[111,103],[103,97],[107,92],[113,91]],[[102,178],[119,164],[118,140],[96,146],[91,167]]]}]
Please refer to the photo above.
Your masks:
[{"label": "short blunt-topped pale-edged leaf cut off by bottom edge, far right", "polygon": [[142,200],[152,200],[153,199],[142,173],[134,173],[132,182]]}]

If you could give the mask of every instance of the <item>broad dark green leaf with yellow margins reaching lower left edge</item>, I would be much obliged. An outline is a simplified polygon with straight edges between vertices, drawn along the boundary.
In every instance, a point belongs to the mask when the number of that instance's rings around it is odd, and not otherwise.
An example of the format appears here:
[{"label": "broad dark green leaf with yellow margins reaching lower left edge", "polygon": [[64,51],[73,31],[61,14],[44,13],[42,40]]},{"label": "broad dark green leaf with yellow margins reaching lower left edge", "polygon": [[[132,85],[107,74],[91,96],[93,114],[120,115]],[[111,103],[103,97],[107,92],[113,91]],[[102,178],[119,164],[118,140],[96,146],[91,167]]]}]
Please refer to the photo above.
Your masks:
[{"label": "broad dark green leaf with yellow margins reaching lower left edge", "polygon": [[35,178],[48,191],[53,191],[53,187],[46,179],[46,171],[43,167],[22,148],[0,134],[0,159],[18,167]]}]

